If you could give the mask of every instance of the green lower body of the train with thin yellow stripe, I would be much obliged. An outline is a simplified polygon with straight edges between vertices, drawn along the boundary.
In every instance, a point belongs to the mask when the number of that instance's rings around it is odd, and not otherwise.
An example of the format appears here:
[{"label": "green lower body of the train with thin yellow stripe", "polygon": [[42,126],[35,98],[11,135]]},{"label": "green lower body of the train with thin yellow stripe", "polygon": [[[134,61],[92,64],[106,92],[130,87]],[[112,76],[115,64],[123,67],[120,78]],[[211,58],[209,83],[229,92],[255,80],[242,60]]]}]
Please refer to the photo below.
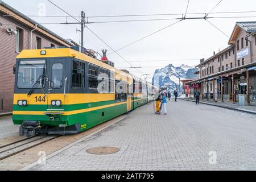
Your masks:
[{"label": "green lower body of the train with thin yellow stripe", "polygon": [[[63,113],[65,114],[58,111],[47,113],[44,109],[47,105],[45,107],[42,105],[26,107],[14,105],[13,122],[15,125],[20,125],[20,135],[27,135],[27,137],[38,134],[76,134],[151,101],[148,98],[134,98],[130,103],[128,101],[115,103],[113,100],[93,102],[86,106],[79,104],[80,106],[68,107],[67,105],[67,109],[64,105]],[[127,109],[127,104],[130,104],[129,109]],[[37,112],[40,114],[33,114]]]}]

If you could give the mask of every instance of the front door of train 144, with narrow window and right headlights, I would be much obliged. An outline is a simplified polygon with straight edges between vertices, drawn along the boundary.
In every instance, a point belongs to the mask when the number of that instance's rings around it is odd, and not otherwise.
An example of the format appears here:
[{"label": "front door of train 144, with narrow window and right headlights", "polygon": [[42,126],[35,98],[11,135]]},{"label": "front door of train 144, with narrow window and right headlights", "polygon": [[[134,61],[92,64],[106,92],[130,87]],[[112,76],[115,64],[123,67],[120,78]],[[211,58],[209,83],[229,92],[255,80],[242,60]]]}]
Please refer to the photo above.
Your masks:
[{"label": "front door of train 144, with narrow window and right headlights", "polygon": [[47,110],[64,110],[65,90],[67,89],[65,67],[65,59],[50,59],[49,61]]}]

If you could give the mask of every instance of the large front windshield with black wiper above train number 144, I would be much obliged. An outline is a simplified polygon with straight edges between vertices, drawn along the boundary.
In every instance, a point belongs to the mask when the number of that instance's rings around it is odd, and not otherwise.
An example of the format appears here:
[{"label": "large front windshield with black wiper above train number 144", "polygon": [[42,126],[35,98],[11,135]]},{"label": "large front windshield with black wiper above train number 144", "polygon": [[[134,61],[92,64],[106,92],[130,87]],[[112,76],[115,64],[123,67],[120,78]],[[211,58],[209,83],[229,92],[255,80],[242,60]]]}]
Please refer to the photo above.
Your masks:
[{"label": "large front windshield with black wiper above train number 144", "polygon": [[20,60],[18,69],[18,88],[30,89],[35,86],[36,81],[40,79],[44,87],[44,76],[46,75],[46,60]]}]

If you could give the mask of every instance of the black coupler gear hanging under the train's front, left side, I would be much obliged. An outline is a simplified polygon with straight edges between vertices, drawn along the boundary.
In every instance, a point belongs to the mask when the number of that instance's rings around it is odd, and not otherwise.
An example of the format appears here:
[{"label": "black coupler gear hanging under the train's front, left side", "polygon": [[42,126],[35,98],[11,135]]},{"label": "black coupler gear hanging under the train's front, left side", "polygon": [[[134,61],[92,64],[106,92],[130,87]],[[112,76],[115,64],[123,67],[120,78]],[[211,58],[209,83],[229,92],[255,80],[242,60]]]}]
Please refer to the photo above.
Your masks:
[{"label": "black coupler gear hanging under the train's front, left side", "polygon": [[19,135],[31,137],[32,135],[40,134],[40,121],[23,121],[22,125],[19,127]]}]

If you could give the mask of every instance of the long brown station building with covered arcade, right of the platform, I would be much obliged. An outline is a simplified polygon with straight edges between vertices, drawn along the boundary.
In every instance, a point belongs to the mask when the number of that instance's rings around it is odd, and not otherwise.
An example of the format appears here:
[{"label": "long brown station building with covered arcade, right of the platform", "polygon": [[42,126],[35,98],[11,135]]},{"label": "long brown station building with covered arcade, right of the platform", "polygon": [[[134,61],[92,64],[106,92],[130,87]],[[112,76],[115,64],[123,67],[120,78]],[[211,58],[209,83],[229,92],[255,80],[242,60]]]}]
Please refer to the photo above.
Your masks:
[{"label": "long brown station building with covered arcade, right of the platform", "polygon": [[228,44],[208,59],[201,59],[199,78],[186,85],[192,88],[201,84],[203,99],[256,103],[256,22],[237,22]]}]

